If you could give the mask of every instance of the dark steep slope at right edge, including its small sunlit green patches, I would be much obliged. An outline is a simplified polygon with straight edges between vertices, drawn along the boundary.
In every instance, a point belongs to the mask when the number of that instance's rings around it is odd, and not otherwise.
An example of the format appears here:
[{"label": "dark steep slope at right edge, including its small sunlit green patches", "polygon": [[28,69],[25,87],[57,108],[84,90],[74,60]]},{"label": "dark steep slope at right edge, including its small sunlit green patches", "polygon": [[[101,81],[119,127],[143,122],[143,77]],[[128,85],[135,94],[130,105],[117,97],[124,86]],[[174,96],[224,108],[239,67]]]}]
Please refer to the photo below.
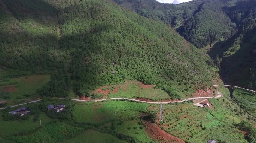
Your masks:
[{"label": "dark steep slope at right edge, including its small sunlit green patches", "polygon": [[237,24],[238,32],[211,50],[222,58],[223,77],[227,84],[256,89],[256,2],[241,1],[226,7],[228,16]]}]

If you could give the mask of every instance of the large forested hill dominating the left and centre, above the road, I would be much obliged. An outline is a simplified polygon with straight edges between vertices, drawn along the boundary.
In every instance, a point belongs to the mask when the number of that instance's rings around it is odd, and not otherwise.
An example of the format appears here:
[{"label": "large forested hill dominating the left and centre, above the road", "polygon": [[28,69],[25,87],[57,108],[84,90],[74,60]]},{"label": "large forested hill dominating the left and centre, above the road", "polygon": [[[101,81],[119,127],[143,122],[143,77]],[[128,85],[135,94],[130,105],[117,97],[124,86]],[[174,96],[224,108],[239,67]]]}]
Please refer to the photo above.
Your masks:
[{"label": "large forested hill dominating the left and centre, above the road", "polygon": [[88,95],[126,79],[157,85],[172,98],[215,78],[209,57],[162,22],[110,0],[0,0],[0,66],[50,73],[44,96]]}]

